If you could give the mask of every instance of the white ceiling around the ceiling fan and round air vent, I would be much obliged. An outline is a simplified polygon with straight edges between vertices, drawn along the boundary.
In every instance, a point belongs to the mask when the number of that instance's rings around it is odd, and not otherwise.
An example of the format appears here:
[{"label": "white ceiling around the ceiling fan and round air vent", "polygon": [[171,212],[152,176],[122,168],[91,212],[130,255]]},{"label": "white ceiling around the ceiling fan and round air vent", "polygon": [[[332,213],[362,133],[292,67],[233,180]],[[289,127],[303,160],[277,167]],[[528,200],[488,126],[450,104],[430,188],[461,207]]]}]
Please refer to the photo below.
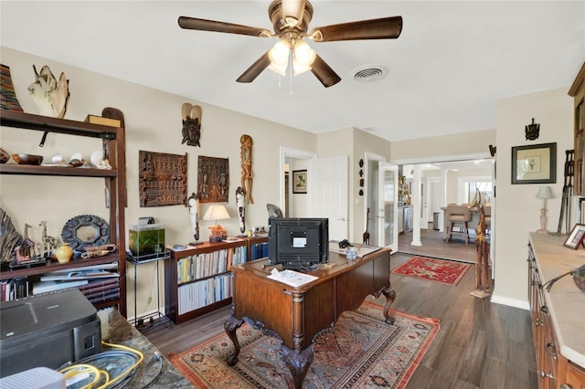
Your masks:
[{"label": "white ceiling around the ceiling fan and round air vent", "polygon": [[[177,25],[178,16],[194,16],[271,30],[270,3],[1,1],[0,43],[304,131],[356,127],[389,141],[495,128],[497,99],[569,89],[585,61],[584,1],[315,0],[309,29],[404,20],[398,39],[309,41],[342,78],[327,89],[311,73],[291,85],[269,69],[240,84],[276,38]],[[388,76],[352,79],[372,64]]]}]

